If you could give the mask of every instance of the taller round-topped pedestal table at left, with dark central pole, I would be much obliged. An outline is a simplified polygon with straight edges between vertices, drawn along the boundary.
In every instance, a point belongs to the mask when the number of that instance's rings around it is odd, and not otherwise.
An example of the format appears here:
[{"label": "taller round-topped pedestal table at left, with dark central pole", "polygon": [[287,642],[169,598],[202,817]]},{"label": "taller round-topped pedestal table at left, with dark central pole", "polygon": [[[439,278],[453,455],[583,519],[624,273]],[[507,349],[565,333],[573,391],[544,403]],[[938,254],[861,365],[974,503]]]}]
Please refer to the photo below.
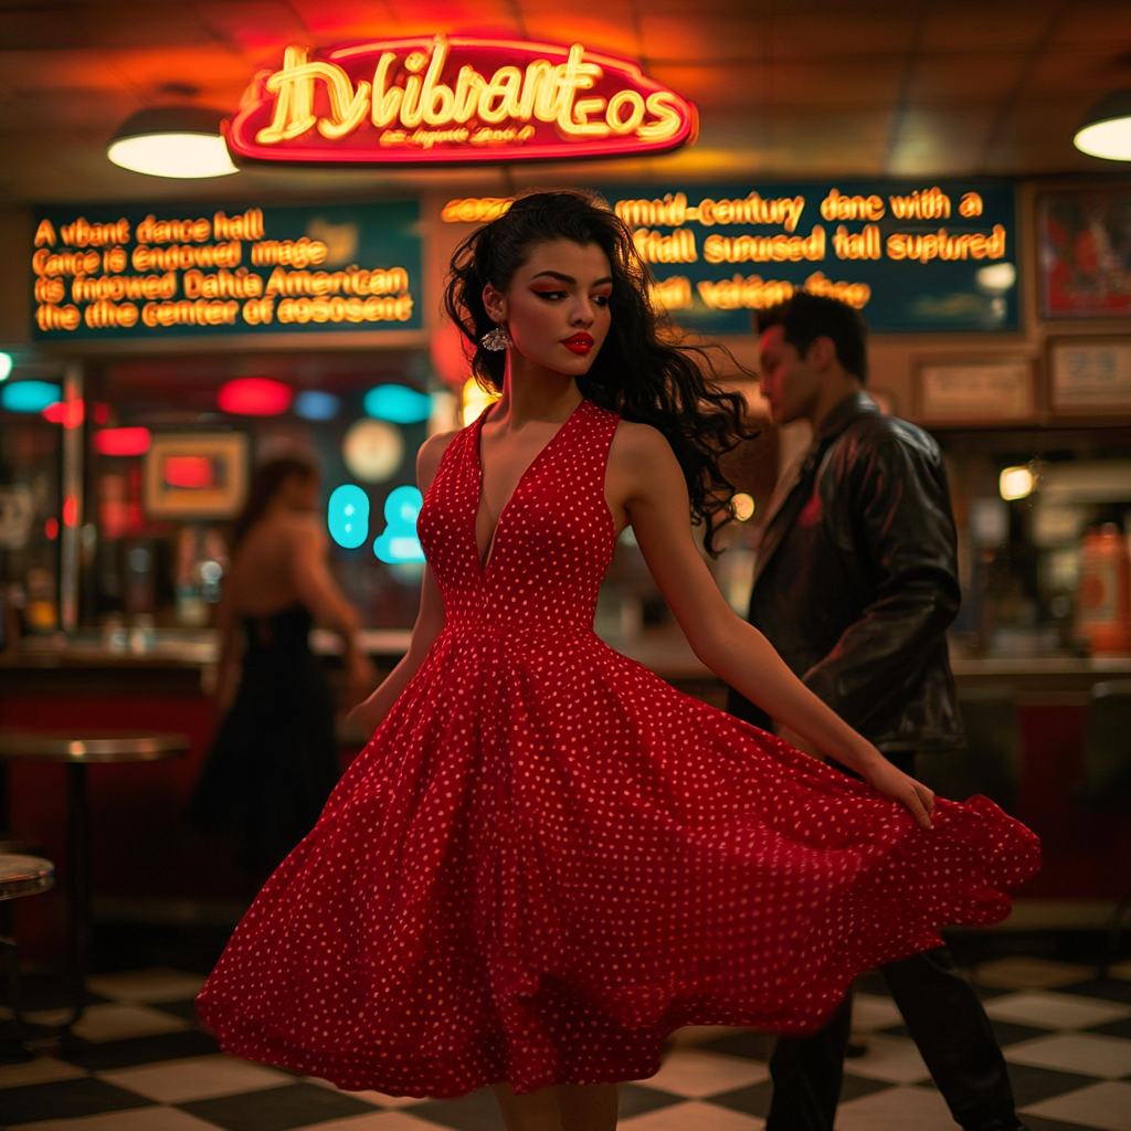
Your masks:
[{"label": "taller round-topped pedestal table at left, with dark central pole", "polygon": [[[189,749],[184,734],[150,731],[23,731],[0,729],[0,762],[32,759],[67,767],[67,926],[70,949],[70,1034],[86,1009],[86,975],[90,949],[90,812],[86,768],[105,762],[154,762],[180,758]],[[0,785],[0,829],[10,828],[7,780]]]}]

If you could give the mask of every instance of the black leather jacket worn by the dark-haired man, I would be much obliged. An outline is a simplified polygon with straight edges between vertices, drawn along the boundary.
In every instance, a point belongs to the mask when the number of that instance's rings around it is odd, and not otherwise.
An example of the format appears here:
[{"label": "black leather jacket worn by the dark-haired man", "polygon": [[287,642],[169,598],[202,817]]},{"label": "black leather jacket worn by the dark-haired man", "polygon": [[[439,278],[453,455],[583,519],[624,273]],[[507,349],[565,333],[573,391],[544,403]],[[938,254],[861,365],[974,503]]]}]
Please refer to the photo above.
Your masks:
[{"label": "black leather jacket worn by the dark-haired man", "polygon": [[[821,426],[767,521],[750,622],[884,753],[965,742],[947,628],[960,594],[939,447],[860,392]],[[769,728],[737,692],[732,714]]]}]

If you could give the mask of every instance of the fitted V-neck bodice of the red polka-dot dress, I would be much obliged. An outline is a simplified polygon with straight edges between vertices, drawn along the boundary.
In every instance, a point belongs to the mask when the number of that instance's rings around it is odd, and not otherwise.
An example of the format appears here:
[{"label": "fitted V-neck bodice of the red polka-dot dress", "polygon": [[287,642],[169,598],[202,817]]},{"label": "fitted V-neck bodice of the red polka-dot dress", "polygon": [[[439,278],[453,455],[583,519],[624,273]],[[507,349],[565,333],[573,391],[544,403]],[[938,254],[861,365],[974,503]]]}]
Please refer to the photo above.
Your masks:
[{"label": "fitted V-neck bodice of the red polka-dot dress", "polygon": [[615,542],[605,466],[620,417],[592,400],[577,406],[519,480],[481,568],[475,516],[483,418],[448,446],[417,521],[443,594],[447,629],[508,636],[592,631]]}]

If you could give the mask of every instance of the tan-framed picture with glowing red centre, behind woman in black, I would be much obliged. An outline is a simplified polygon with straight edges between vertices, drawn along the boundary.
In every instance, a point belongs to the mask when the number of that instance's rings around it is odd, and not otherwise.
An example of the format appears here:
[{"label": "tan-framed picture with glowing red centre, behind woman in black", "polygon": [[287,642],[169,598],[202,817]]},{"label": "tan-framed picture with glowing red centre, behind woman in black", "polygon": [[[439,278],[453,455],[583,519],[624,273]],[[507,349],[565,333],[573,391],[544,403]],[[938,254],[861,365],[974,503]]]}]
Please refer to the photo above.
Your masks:
[{"label": "tan-framed picture with glowing red centre, behind woman in black", "polygon": [[147,518],[234,518],[248,494],[245,432],[158,432],[145,456]]}]

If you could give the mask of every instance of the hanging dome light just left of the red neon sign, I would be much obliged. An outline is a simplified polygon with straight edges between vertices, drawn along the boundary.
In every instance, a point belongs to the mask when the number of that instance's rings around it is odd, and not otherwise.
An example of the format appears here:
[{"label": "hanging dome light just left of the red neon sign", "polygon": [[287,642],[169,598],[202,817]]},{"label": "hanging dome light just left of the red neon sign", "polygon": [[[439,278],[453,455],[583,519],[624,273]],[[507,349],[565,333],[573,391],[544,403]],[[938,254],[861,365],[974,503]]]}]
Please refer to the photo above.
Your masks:
[{"label": "hanging dome light just left of the red neon sign", "polygon": [[223,116],[205,106],[139,110],[118,127],[106,156],[147,176],[188,180],[239,173],[219,131]]}]

